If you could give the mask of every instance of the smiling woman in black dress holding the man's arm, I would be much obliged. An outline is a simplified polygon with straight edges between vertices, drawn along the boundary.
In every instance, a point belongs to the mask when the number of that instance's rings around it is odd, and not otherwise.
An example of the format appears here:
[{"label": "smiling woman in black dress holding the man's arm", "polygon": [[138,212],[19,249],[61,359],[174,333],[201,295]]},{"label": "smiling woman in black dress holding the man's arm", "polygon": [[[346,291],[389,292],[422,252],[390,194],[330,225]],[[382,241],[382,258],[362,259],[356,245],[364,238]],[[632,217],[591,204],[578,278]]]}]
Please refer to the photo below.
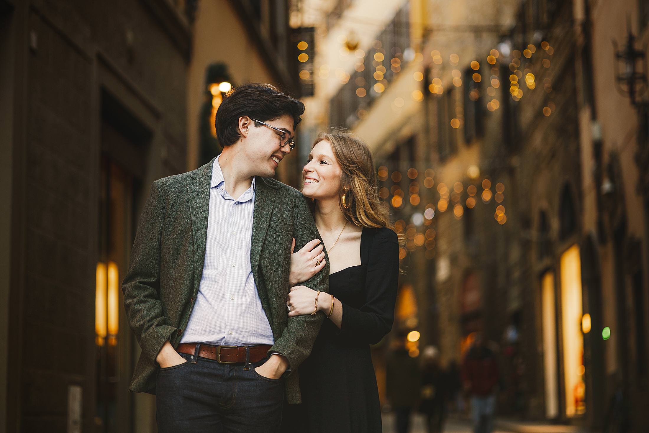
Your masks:
[{"label": "smiling woman in black dress holding the man's arm", "polygon": [[[317,313],[327,318],[311,355],[300,365],[302,404],[286,408],[282,431],[380,432],[369,345],[392,327],[397,234],[378,197],[371,152],[360,139],[337,131],[320,134],[302,177],[302,193],[312,199],[328,254],[330,293],[297,286],[288,295],[289,316]],[[291,286],[324,266],[317,243],[292,254]]]}]

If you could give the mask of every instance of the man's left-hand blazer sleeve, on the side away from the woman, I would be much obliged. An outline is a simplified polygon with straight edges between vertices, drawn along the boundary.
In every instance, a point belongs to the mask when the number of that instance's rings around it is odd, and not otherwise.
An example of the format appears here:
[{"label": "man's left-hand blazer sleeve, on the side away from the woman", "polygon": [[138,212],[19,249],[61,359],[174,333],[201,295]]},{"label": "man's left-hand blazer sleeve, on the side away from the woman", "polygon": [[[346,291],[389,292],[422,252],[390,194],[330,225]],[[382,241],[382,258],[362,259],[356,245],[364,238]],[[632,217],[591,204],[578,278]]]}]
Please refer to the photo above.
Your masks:
[{"label": "man's left-hand blazer sleeve, on the side away from the woman", "polygon": [[160,243],[165,218],[162,186],[153,182],[140,216],[130,257],[130,267],[122,282],[124,306],[142,352],[156,362],[156,356],[176,330],[165,325],[160,303]]}]

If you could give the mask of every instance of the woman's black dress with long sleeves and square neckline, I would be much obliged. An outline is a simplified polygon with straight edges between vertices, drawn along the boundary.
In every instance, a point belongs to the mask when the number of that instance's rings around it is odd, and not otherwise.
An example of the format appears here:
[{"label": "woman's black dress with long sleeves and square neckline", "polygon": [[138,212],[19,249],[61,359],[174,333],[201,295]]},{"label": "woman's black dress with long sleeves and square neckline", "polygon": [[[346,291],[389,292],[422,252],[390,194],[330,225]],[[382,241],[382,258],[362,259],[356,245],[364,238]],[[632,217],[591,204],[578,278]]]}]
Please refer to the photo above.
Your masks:
[{"label": "woman's black dress with long sleeves and square neckline", "polygon": [[391,330],[397,299],[397,234],[363,229],[361,264],[329,276],[343,306],[341,328],[325,319],[300,365],[301,404],[285,404],[281,432],[381,432],[381,412],[369,345]]}]

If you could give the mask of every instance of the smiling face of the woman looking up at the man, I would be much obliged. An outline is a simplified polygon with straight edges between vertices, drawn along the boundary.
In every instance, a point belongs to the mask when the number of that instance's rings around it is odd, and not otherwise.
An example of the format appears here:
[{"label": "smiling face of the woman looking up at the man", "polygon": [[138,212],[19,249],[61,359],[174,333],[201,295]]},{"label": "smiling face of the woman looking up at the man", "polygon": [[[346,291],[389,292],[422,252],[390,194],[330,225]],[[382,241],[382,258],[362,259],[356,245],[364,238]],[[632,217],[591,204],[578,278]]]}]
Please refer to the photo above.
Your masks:
[{"label": "smiling face of the woman looking up at the man", "polygon": [[310,199],[323,200],[337,197],[340,190],[340,168],[331,144],[323,140],[313,146],[309,162],[302,169],[302,193]]}]

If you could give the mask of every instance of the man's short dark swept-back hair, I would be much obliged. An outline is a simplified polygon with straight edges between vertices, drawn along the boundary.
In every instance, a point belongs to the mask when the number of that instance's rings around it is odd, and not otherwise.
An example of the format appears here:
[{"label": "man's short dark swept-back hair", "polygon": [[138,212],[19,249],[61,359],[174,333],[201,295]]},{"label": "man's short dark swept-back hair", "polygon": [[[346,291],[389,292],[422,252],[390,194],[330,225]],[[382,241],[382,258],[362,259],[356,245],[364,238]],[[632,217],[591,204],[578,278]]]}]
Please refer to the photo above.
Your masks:
[{"label": "man's short dark swept-back hair", "polygon": [[[225,94],[216,112],[216,135],[223,147],[239,140],[239,118],[249,116],[262,122],[284,114],[293,118],[293,129],[302,121],[304,104],[280,92],[271,84],[252,82],[233,88]],[[255,122],[256,127],[261,124]]]}]

